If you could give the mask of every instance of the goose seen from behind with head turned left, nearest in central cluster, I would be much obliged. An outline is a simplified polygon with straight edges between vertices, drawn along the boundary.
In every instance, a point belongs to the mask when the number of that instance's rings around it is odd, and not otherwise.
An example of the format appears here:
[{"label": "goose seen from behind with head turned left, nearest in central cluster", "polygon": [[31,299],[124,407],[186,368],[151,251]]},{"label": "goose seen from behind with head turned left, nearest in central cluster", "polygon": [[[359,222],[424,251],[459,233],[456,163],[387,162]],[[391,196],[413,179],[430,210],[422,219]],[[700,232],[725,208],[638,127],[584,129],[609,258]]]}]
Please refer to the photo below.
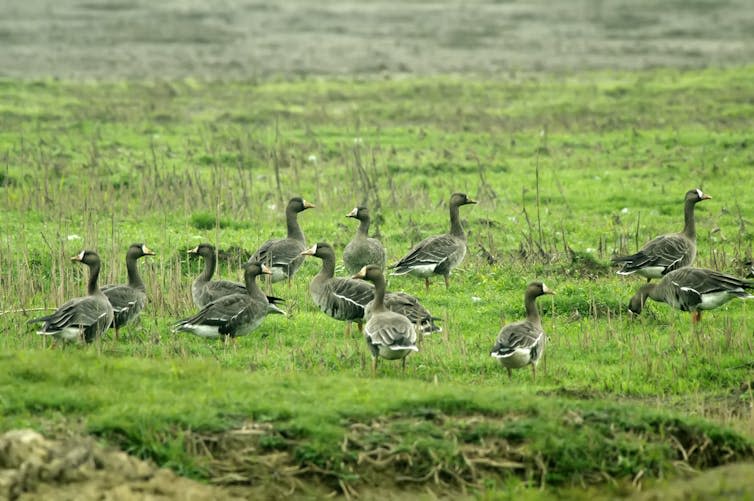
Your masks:
[{"label": "goose seen from behind with head turned left, nearest in central cluster", "polygon": [[414,324],[401,315],[385,307],[385,276],[379,266],[364,266],[352,278],[369,280],[374,284],[374,304],[364,325],[367,346],[372,354],[372,374],[377,372],[377,358],[401,360],[401,368],[406,371],[406,356],[419,351],[416,346]]}]

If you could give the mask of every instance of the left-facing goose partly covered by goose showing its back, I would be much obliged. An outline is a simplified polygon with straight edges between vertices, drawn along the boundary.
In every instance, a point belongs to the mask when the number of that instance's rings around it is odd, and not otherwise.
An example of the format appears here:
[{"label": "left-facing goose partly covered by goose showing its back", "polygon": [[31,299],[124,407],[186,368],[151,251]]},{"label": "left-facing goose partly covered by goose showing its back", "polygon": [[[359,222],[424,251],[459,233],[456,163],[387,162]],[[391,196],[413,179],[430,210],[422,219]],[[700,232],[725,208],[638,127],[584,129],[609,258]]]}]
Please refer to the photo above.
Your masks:
[{"label": "left-facing goose partly covered by goose showing its back", "polygon": [[322,260],[322,268],[309,284],[309,294],[321,311],[348,322],[346,334],[350,334],[351,322],[363,323],[364,306],[374,298],[374,287],[362,280],[335,277],[335,251],[326,242],[314,244],[301,255]]}]

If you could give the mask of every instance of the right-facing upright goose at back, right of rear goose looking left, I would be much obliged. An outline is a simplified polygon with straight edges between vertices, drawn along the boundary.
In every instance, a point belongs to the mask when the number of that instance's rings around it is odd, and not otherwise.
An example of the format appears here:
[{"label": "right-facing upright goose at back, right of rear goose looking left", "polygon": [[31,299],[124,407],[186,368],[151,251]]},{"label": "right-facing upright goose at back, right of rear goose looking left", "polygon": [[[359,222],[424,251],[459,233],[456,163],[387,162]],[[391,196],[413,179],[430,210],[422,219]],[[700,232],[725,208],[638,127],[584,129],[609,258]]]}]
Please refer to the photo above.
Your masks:
[{"label": "right-facing upright goose at back, right of rear goose looking left", "polygon": [[463,261],[466,255],[466,234],[463,232],[458,208],[475,204],[463,193],[453,193],[450,197],[450,233],[425,238],[416,244],[403,259],[392,265],[393,275],[410,274],[424,278],[424,286],[429,291],[429,277],[442,275],[445,288],[449,287],[450,271]]}]

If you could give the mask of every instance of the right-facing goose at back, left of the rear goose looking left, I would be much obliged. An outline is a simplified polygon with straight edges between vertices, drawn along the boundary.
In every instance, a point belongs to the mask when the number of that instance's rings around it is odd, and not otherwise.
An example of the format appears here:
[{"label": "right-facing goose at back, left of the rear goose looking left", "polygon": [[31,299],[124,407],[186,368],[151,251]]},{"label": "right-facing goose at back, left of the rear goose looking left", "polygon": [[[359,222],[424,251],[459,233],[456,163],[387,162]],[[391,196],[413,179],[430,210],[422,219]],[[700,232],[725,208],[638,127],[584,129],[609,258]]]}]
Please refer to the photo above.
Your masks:
[{"label": "right-facing goose at back, left of the rear goose looking left", "polygon": [[278,240],[267,240],[249,259],[250,262],[265,263],[272,272],[273,283],[287,278],[290,286],[291,277],[304,262],[301,252],[306,249],[306,239],[298,224],[298,213],[314,207],[314,204],[300,197],[291,198],[285,209],[288,236]]}]

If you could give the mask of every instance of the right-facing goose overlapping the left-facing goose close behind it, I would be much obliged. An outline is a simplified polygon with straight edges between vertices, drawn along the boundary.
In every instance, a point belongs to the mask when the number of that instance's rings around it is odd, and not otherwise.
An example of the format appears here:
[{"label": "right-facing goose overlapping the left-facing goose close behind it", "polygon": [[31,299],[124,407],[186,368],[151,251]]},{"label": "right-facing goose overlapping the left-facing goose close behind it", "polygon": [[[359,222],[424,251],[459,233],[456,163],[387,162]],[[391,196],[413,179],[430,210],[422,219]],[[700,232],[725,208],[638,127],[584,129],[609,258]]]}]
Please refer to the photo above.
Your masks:
[{"label": "right-facing goose overlapping the left-facing goose close behind it", "polygon": [[196,315],[177,322],[173,332],[190,332],[210,339],[225,336],[226,341],[249,334],[259,327],[269,312],[269,305],[257,285],[256,277],[270,273],[270,269],[262,263],[247,262],[244,264],[244,293],[222,296],[208,303]]}]

